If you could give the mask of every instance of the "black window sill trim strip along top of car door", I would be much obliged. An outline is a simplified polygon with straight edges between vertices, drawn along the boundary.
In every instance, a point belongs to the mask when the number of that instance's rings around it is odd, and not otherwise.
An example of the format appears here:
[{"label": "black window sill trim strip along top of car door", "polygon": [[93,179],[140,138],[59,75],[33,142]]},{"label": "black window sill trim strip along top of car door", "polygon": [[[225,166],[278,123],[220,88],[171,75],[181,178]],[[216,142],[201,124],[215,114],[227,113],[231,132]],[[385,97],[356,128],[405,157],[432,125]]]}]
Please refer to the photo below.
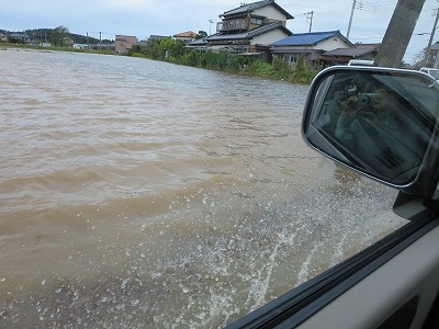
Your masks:
[{"label": "black window sill trim strip along top of car door", "polygon": [[[425,211],[359,253],[226,328],[294,328],[439,225]],[[285,328],[286,328],[285,327]]]}]

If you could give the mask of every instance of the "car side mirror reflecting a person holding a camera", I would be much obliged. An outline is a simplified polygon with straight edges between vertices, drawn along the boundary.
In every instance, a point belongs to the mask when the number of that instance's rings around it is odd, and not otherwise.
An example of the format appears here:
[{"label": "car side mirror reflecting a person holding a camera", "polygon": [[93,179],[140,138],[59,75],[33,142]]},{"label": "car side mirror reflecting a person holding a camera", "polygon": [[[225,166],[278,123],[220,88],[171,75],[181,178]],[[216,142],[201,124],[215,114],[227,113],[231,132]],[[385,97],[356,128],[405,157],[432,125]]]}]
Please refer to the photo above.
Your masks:
[{"label": "car side mirror reflecting a person holding a camera", "polygon": [[436,81],[419,72],[333,67],[313,81],[303,137],[334,160],[404,189],[424,168],[438,106]]}]

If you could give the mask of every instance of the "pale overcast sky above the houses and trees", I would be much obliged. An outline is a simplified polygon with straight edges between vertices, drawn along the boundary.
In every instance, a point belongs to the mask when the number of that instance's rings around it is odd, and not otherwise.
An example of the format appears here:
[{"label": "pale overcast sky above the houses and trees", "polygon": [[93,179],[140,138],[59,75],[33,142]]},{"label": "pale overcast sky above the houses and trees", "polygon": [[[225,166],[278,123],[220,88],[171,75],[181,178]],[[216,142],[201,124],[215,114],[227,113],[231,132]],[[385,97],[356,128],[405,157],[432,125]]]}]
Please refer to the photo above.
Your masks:
[{"label": "pale overcast sky above the houses and trees", "polygon": [[[439,0],[426,0],[405,60],[427,47]],[[218,15],[240,5],[239,0],[0,0],[0,29],[23,31],[63,25],[70,33],[87,33],[114,39],[116,34],[146,39],[149,35],[173,35],[185,31],[216,30]],[[246,1],[254,2],[254,1]],[[350,41],[380,43],[397,0],[357,0]],[[346,36],[353,0],[277,0],[294,16],[286,27],[293,33],[340,30]],[[212,20],[214,23],[210,23]],[[421,35],[418,35],[421,34]],[[435,42],[439,39],[439,32]]]}]

